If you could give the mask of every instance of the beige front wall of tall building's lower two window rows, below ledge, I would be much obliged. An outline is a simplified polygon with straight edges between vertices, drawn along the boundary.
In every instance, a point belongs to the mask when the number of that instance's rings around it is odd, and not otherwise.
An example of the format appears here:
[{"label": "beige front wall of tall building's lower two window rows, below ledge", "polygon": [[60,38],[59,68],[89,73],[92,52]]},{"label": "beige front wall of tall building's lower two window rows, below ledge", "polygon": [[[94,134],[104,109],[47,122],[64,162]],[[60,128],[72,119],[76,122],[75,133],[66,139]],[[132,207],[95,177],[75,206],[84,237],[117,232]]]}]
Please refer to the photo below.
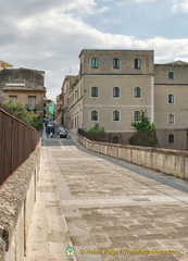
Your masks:
[{"label": "beige front wall of tall building's lower two window rows, below ledge", "polygon": [[[100,123],[106,132],[128,132],[133,129],[134,111],[146,111],[151,119],[151,75],[89,75],[84,77],[83,102],[84,129]],[[99,88],[99,97],[91,97],[91,87]],[[141,98],[134,98],[134,88],[141,88]],[[120,98],[113,97],[113,87],[120,88]],[[90,112],[99,112],[99,121],[91,122]],[[113,111],[120,111],[118,122],[113,121]]]}]

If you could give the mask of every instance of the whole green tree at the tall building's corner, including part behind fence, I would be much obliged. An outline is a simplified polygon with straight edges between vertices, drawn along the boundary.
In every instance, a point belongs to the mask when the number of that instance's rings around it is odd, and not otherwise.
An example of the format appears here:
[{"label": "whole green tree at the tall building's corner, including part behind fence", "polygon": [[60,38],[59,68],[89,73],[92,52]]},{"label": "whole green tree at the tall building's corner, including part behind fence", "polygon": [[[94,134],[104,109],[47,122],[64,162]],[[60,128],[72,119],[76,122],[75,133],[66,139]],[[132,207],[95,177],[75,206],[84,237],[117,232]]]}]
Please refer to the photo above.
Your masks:
[{"label": "whole green tree at the tall building's corner, including part behind fence", "polygon": [[133,122],[131,126],[135,127],[135,133],[130,138],[130,145],[156,147],[158,138],[155,135],[155,125],[150,122],[150,119],[141,111],[141,117],[139,122]]}]

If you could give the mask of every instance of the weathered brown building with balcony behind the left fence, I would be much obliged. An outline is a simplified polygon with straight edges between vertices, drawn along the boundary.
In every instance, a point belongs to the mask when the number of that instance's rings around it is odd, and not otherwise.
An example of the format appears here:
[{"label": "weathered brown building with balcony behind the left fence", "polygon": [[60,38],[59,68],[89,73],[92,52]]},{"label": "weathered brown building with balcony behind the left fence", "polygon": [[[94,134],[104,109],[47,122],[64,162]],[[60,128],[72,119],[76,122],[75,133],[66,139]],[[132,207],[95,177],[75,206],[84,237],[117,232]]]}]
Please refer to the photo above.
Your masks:
[{"label": "weathered brown building with balcony behind the left fence", "polygon": [[0,96],[5,101],[20,101],[28,111],[43,115],[45,72],[30,69],[0,71]]}]

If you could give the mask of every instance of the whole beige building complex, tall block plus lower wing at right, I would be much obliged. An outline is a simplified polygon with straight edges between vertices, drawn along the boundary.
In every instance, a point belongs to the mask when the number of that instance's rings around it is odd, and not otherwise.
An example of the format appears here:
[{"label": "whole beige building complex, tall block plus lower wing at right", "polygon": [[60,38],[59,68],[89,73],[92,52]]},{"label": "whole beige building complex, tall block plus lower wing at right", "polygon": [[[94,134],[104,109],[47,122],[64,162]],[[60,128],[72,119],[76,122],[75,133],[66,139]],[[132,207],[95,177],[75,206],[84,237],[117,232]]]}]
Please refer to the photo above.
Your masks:
[{"label": "whole beige building complex, tall block plus lower wing at right", "polygon": [[161,144],[187,146],[188,63],[154,64],[153,50],[82,50],[79,73],[65,77],[62,92],[64,125],[75,132],[96,123],[110,133],[133,132],[145,111]]}]

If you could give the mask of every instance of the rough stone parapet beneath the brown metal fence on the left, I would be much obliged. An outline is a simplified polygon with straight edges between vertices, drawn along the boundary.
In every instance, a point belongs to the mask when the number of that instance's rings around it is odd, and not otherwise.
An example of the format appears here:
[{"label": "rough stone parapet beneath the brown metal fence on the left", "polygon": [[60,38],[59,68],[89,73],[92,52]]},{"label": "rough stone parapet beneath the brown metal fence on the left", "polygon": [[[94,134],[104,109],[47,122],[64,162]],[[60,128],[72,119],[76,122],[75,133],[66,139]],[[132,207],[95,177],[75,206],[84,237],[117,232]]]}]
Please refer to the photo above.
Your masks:
[{"label": "rough stone parapet beneath the brown metal fence on the left", "polygon": [[36,201],[40,144],[0,187],[0,261],[22,261]]}]

